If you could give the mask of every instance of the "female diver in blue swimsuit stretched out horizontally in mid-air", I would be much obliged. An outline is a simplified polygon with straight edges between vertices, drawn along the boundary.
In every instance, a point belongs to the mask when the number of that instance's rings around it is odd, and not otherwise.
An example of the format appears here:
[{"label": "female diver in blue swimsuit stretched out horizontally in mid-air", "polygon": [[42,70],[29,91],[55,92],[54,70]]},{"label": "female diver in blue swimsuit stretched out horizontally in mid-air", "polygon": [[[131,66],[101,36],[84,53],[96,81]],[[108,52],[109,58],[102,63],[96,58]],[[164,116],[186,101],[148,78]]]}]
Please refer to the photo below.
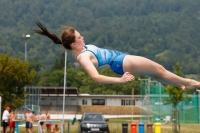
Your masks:
[{"label": "female diver in blue swimsuit stretched out horizontally in mid-air", "polygon": [[[62,44],[64,48],[71,50],[73,56],[95,82],[125,83],[135,79],[132,74],[143,74],[163,84],[177,86],[183,90],[200,88],[200,82],[179,77],[166,70],[162,65],[147,58],[103,49],[94,45],[85,45],[83,36],[72,27],[65,26],[59,39],[55,34],[50,33],[39,21],[36,24],[41,30],[33,30],[35,33],[47,36],[54,43]],[[109,77],[99,74],[96,68],[103,65],[109,65],[111,70],[122,76]]]}]

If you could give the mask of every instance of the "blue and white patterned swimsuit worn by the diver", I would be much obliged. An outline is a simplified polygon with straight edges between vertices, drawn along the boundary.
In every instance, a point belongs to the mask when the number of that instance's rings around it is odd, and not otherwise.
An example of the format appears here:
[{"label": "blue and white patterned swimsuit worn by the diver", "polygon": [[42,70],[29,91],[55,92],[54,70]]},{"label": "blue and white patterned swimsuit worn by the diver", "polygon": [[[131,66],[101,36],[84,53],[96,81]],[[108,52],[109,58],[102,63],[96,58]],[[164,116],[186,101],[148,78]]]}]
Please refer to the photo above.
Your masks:
[{"label": "blue and white patterned swimsuit worn by the diver", "polygon": [[[95,57],[97,58],[98,60],[97,68],[103,65],[109,65],[111,70],[114,71],[115,73],[120,74],[120,75],[124,74],[123,60],[124,60],[124,57],[127,55],[127,53],[119,52],[115,50],[102,49],[91,44],[85,45],[85,48],[86,48],[85,51],[89,51],[93,53]],[[79,54],[85,51],[82,51]]]}]

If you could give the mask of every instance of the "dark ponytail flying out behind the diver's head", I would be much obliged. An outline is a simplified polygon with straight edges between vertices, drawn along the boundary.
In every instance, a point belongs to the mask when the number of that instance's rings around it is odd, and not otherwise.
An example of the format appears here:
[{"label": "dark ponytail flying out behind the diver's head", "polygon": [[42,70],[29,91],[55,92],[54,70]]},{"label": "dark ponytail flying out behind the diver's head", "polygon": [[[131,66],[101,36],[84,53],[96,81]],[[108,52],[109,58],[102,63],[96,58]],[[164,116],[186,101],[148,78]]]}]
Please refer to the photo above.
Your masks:
[{"label": "dark ponytail flying out behind the diver's head", "polygon": [[55,44],[62,44],[62,41],[55,35],[50,33],[47,28],[39,21],[35,22],[41,30],[33,30],[35,33],[49,37]]}]

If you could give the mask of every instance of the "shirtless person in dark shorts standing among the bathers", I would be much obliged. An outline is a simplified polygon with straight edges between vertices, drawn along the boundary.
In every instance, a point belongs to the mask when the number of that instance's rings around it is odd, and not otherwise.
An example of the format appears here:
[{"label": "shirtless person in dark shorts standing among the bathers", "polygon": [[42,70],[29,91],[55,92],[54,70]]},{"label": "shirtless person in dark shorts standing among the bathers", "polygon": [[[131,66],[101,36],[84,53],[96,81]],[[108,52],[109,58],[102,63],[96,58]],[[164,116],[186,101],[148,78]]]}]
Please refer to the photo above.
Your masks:
[{"label": "shirtless person in dark shorts standing among the bathers", "polygon": [[34,119],[34,115],[31,112],[30,109],[27,109],[27,113],[25,116],[25,120],[26,120],[26,133],[32,133],[33,132],[33,119]]}]

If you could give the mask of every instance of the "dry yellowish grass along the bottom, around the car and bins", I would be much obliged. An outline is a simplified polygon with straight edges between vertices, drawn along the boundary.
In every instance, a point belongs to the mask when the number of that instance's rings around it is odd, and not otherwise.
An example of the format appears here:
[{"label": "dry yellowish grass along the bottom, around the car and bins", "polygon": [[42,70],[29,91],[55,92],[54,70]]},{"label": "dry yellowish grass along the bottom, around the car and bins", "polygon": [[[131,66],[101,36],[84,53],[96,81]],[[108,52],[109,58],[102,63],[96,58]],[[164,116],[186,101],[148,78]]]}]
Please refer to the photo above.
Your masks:
[{"label": "dry yellowish grass along the bottom, around the car and bins", "polygon": [[[138,123],[138,120],[134,120],[134,123]],[[130,118],[124,118],[124,119],[109,119],[109,128],[111,133],[122,133],[122,123],[129,123],[128,125],[128,133],[131,133],[130,129]],[[69,121],[70,125],[70,133],[78,133],[78,121],[74,125],[71,124],[71,121]],[[60,127],[60,125],[59,125]],[[46,127],[45,127],[46,128]],[[145,126],[146,129],[146,126]],[[180,132],[181,133],[200,133],[200,123],[195,124],[181,124],[180,125]],[[46,129],[45,129],[46,131]],[[153,133],[154,133],[153,128]],[[25,133],[24,127],[19,127],[19,133]],[[35,126],[33,128],[33,133],[38,133],[38,127]],[[65,123],[65,133],[68,133],[68,121]],[[172,133],[172,125],[171,124],[162,124],[161,125],[161,133]]]}]

